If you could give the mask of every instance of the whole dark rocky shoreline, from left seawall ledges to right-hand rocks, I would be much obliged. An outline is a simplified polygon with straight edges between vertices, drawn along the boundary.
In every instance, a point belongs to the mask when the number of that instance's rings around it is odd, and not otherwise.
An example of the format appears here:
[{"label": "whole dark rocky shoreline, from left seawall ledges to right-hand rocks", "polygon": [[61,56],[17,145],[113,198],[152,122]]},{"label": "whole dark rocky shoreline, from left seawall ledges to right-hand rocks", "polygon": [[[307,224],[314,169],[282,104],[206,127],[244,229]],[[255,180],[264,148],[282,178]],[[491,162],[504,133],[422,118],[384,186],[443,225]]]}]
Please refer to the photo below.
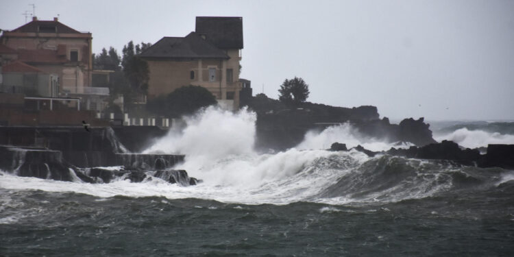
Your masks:
[{"label": "whole dark rocky shoreline, from left seawall ledges to right-hand rocks", "polygon": [[[341,108],[316,103],[287,108],[265,96],[253,97],[249,108],[257,114],[256,149],[285,151],[304,140],[308,131],[322,131],[349,123],[361,136],[381,138],[389,143],[408,142],[408,149],[369,151],[354,147],[368,156],[389,154],[406,158],[449,160],[475,167],[514,169],[514,145],[489,145],[486,154],[465,149],[452,141],[437,143],[423,118],[404,119],[391,124],[378,119],[374,106]],[[20,176],[88,183],[114,180],[142,182],[160,178],[171,184],[195,185],[184,170],[174,169],[184,156],[171,154],[132,154],[151,145],[167,133],[159,127],[0,127],[0,169]],[[331,151],[349,151],[344,143],[334,143]],[[102,168],[103,167],[103,168]],[[108,169],[106,167],[117,167]]]}]

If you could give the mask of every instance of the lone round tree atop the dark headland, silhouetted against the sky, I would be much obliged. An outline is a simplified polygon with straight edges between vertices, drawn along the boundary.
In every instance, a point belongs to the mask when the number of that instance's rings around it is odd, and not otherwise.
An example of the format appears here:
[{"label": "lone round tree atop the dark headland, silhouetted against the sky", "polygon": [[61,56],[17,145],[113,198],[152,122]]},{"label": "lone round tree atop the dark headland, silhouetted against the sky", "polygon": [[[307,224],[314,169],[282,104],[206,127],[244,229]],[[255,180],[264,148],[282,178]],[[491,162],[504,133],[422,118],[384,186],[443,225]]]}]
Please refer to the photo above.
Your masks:
[{"label": "lone round tree atop the dark headland, silhouetted against the sky", "polygon": [[284,80],[278,92],[280,93],[278,98],[280,101],[295,105],[304,102],[310,93],[308,84],[301,77]]}]

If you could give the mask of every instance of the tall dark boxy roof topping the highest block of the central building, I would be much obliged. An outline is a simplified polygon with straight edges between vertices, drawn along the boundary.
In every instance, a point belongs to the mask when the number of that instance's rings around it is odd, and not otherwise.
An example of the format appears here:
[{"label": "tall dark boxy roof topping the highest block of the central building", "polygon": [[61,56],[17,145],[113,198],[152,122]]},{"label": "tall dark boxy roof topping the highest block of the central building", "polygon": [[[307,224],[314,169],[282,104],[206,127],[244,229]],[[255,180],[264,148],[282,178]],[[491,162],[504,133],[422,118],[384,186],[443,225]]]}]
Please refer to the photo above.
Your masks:
[{"label": "tall dark boxy roof topping the highest block of the central building", "polygon": [[243,49],[242,17],[196,17],[196,30],[220,49]]}]

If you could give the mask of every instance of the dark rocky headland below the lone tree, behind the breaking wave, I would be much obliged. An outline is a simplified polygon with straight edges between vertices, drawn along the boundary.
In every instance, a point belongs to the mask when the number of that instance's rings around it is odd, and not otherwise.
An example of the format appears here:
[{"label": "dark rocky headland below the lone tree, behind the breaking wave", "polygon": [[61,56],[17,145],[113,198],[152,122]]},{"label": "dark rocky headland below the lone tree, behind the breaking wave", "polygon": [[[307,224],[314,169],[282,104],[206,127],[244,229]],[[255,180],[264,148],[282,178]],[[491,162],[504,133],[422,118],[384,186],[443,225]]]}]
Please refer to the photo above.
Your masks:
[{"label": "dark rocky headland below the lone tree, behind the breaking wave", "polygon": [[257,112],[256,147],[282,151],[295,147],[304,140],[309,130],[323,130],[330,125],[350,123],[360,134],[382,138],[389,142],[411,142],[417,146],[436,143],[424,119],[404,119],[391,124],[389,119],[378,119],[375,106],[342,108],[317,103],[286,106],[280,101],[258,95],[249,108]]}]

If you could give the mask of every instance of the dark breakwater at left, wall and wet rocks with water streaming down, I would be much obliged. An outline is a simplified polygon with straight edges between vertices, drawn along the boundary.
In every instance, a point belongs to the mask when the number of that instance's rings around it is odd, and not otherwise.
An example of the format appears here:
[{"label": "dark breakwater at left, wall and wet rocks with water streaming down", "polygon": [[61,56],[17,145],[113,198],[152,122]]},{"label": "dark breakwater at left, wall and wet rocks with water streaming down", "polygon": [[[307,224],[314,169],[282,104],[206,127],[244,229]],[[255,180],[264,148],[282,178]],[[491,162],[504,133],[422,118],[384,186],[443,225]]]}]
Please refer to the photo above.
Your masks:
[{"label": "dark breakwater at left, wall and wet rocks with water streaming down", "polygon": [[89,131],[84,127],[0,127],[0,169],[62,181],[141,182],[156,175],[154,178],[170,183],[196,184],[186,171],[173,169],[184,161],[183,155],[131,151],[149,145],[154,136],[165,132],[158,127],[130,127],[126,131],[123,127],[90,127]]}]

